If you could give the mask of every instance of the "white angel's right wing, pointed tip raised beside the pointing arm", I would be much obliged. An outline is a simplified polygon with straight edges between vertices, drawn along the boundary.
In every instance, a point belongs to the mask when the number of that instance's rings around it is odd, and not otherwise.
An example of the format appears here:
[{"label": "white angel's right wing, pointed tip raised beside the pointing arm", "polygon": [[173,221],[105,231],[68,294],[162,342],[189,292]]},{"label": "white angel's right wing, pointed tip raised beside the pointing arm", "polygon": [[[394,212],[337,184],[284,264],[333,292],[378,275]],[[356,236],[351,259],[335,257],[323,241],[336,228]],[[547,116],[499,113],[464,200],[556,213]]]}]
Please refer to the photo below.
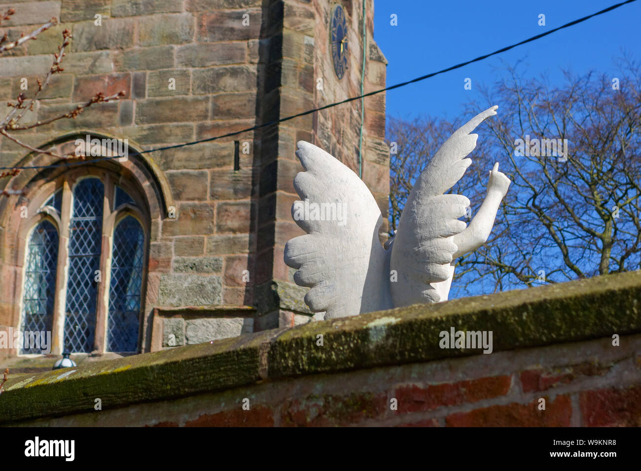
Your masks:
[{"label": "white angel's right wing, pointed tip raised beside the pointing arm", "polygon": [[394,307],[418,302],[438,302],[431,283],[452,276],[451,262],[458,247],[454,235],[465,230],[470,201],[463,195],[445,194],[463,176],[472,160],[465,158],[476,147],[478,135],[470,134],[498,106],[479,113],[454,131],[420,174],[401,213],[394,237],[390,270],[397,270],[397,283],[390,283]]}]

